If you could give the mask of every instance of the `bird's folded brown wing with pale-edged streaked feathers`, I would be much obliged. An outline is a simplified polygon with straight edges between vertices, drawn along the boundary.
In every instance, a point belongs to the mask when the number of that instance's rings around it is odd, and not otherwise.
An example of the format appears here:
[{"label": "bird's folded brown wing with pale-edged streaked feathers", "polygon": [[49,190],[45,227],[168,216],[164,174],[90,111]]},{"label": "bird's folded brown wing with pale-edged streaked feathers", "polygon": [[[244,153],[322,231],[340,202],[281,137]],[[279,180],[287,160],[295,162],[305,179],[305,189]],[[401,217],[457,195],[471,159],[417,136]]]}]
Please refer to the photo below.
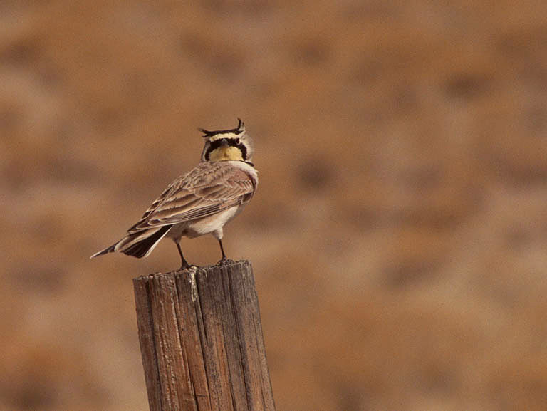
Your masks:
[{"label": "bird's folded brown wing with pale-edged streaked feathers", "polygon": [[222,162],[202,163],[187,175],[174,180],[128,232],[217,214],[234,205],[249,202],[255,188],[253,178],[239,167]]}]

